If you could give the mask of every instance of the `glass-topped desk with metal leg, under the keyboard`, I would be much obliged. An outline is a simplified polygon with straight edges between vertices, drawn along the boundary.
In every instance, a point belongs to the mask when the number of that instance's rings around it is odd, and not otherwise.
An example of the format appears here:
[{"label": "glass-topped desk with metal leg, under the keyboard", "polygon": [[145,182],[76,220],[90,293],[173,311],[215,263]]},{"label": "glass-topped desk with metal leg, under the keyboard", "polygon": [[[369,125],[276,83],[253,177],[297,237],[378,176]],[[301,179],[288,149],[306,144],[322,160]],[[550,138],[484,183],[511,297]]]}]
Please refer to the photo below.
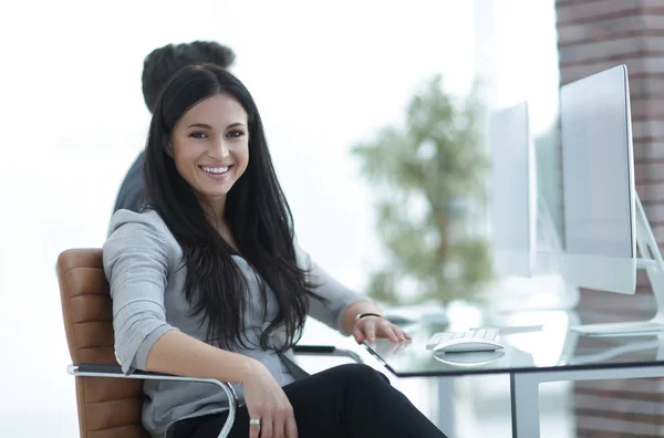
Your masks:
[{"label": "glass-topped desk with metal leg, under the keyboard", "polygon": [[[447,330],[411,330],[413,341],[364,344],[398,377],[455,377],[481,374],[510,376],[512,436],[540,436],[539,384],[560,380],[664,377],[664,333],[631,336],[583,336],[542,313],[541,324],[500,327],[505,350],[475,353],[433,353],[425,347],[430,335]],[[539,325],[539,326],[538,326]],[[458,330],[458,328],[455,328]]]}]

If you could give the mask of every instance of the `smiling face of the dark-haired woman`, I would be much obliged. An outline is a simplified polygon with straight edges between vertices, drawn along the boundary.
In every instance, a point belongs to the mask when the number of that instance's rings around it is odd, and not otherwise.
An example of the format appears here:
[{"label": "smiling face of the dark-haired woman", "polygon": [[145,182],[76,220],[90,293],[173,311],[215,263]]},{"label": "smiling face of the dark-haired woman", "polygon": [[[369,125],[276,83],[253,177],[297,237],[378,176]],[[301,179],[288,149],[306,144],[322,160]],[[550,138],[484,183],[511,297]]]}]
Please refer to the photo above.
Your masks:
[{"label": "smiling face of the dark-haired woman", "polygon": [[177,171],[200,198],[224,206],[249,163],[245,108],[229,94],[208,97],[180,117],[170,139]]}]

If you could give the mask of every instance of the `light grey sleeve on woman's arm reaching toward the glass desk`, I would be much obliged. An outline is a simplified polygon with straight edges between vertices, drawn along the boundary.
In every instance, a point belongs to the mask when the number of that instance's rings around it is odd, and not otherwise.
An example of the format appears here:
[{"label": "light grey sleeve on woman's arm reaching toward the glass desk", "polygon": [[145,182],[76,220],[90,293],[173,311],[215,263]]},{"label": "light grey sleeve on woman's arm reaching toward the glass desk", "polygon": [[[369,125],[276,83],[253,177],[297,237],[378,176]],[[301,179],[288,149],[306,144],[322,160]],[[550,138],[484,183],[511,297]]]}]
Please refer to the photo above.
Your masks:
[{"label": "light grey sleeve on woman's arm reaching toward the glass desk", "polygon": [[344,311],[349,305],[356,303],[357,301],[371,301],[371,299],[350,290],[335,280],[319,267],[297,242],[294,242],[294,247],[298,267],[309,271],[310,279],[314,284],[313,292],[328,300],[326,302],[321,302],[315,298],[311,298],[309,300],[310,315],[325,325],[347,335],[349,333],[343,331]]}]

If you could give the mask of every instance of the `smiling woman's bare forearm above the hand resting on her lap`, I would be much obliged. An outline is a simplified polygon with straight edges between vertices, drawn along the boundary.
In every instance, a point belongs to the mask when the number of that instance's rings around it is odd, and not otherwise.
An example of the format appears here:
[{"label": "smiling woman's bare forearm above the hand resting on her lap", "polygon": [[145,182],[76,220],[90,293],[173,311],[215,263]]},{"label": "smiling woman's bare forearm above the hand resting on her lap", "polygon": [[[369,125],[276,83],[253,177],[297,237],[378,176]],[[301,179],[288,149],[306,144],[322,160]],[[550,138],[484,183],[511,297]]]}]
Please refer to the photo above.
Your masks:
[{"label": "smiling woman's bare forearm above the hand resting on her lap", "polygon": [[214,347],[179,331],[165,333],[147,356],[147,371],[243,383],[256,359]]}]

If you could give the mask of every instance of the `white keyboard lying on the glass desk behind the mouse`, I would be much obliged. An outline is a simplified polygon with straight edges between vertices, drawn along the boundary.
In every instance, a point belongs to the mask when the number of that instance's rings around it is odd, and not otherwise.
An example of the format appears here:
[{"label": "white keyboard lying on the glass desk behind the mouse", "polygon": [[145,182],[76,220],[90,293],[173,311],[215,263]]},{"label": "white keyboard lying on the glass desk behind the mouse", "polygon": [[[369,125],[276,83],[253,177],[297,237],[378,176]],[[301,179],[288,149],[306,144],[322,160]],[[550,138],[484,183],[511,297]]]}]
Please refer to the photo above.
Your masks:
[{"label": "white keyboard lying on the glass desk behind the mouse", "polygon": [[434,333],[426,348],[444,353],[492,352],[504,348],[504,345],[498,340],[498,328],[485,327]]}]

